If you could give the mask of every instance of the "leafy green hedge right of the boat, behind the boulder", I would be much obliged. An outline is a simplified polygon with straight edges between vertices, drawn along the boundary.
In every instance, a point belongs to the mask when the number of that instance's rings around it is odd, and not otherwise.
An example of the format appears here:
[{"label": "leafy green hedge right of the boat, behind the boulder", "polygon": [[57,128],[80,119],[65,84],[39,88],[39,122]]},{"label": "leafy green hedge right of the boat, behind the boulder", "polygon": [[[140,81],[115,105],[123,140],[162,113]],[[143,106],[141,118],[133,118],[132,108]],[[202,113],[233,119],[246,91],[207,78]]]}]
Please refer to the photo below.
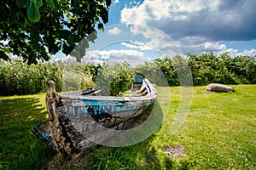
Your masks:
[{"label": "leafy green hedge right of the boat, behind the boulder", "polygon": [[[194,85],[207,85],[218,82],[224,84],[253,84],[256,77],[256,59],[252,56],[236,56],[231,58],[228,53],[215,56],[212,52],[195,55],[187,54],[183,59],[179,56],[155,59],[154,63],[164,73],[170,86],[191,85],[191,75]],[[154,65],[144,65],[148,71],[154,70]],[[190,71],[191,70],[191,73]]]}]

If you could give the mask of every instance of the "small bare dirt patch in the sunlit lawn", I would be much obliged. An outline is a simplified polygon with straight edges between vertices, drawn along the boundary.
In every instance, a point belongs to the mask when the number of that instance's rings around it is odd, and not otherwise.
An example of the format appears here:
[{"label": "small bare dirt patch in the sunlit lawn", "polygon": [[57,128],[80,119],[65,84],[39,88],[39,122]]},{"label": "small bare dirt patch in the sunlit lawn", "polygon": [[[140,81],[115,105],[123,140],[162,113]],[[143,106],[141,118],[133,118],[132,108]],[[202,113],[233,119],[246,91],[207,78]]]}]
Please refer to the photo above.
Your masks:
[{"label": "small bare dirt patch in the sunlit lawn", "polygon": [[164,151],[166,155],[170,157],[172,160],[186,156],[183,144],[178,144],[175,146],[166,146],[166,149]]}]

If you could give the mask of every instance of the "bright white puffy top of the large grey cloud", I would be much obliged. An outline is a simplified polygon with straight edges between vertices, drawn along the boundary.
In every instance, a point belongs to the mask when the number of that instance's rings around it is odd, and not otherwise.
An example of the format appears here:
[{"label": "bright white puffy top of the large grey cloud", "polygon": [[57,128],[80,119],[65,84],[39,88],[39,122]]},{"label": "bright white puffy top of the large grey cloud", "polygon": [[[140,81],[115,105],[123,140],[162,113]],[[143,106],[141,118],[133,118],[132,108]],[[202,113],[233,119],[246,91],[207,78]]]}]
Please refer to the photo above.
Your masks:
[{"label": "bright white puffy top of the large grey cloud", "polygon": [[[124,8],[121,21],[126,24],[147,24],[149,20],[186,20],[186,13],[192,13],[206,8],[205,1],[184,2],[177,0],[145,0],[141,5]],[[207,3],[206,3],[207,4]]]}]

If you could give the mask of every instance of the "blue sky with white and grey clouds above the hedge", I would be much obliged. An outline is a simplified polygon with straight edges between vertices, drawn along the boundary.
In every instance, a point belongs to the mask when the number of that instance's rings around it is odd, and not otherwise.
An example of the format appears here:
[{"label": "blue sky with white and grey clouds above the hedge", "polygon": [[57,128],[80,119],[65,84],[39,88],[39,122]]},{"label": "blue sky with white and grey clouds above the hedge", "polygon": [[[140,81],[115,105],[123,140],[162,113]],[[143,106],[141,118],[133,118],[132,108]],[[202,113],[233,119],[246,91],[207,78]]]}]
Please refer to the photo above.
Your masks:
[{"label": "blue sky with white and grey clouds above the hedge", "polygon": [[130,59],[163,55],[256,55],[255,0],[113,0],[105,31],[86,57]]}]

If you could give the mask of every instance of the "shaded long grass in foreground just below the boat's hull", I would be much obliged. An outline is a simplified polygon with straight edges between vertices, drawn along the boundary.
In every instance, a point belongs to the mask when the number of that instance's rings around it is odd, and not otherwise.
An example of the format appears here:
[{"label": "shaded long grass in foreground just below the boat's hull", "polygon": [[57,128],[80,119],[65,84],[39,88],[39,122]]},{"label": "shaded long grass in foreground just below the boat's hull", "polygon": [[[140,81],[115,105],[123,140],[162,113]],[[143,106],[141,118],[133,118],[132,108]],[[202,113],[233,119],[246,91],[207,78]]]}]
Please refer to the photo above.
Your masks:
[{"label": "shaded long grass in foreground just below the boat's hull", "polygon": [[[186,159],[173,161],[161,155],[152,144],[154,135],[140,144],[122,148],[92,148],[84,159],[86,169],[189,169],[190,162]],[[70,167],[61,167],[69,169]]]}]

